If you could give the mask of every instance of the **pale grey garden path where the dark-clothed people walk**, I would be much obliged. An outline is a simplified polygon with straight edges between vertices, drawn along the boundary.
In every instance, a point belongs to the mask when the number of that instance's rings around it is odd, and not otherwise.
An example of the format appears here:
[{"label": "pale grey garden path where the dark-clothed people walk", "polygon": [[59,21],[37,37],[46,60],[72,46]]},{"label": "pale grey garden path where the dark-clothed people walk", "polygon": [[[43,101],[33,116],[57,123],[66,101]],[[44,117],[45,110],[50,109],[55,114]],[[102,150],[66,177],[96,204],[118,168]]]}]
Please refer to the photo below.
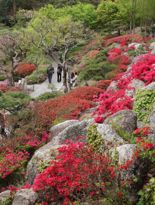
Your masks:
[{"label": "pale grey garden path where the dark-clothed people walk", "polygon": [[32,98],[36,98],[44,93],[59,91],[63,89],[62,82],[57,82],[57,70],[56,65],[54,64],[54,74],[52,77],[52,84],[49,85],[48,79],[46,79],[41,84],[27,85],[27,89],[29,90],[29,94]]}]

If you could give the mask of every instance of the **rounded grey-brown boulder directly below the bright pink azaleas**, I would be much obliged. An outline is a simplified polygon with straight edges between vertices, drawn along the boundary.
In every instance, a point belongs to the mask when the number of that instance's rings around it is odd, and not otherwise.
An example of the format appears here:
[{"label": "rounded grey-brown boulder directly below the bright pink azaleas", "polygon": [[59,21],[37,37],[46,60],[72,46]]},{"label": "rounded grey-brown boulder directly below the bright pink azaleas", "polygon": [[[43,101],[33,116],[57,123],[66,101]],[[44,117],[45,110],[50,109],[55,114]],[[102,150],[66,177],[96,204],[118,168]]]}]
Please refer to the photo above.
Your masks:
[{"label": "rounded grey-brown boulder directly below the bright pink azaleas", "polygon": [[137,128],[137,116],[132,110],[121,110],[114,115],[108,117],[105,121],[106,124],[114,124],[124,131],[132,133]]}]

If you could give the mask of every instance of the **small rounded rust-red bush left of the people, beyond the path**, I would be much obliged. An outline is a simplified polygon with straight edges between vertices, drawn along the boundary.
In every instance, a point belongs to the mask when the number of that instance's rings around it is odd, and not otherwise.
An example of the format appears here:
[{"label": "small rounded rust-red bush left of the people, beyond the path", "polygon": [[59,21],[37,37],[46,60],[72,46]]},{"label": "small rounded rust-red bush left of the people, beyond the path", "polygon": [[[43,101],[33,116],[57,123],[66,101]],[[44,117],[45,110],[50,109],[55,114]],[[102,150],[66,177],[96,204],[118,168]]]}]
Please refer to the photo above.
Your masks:
[{"label": "small rounded rust-red bush left of the people, beyond the path", "polygon": [[21,77],[25,77],[33,73],[36,70],[36,66],[32,63],[21,63],[17,65],[15,73]]}]

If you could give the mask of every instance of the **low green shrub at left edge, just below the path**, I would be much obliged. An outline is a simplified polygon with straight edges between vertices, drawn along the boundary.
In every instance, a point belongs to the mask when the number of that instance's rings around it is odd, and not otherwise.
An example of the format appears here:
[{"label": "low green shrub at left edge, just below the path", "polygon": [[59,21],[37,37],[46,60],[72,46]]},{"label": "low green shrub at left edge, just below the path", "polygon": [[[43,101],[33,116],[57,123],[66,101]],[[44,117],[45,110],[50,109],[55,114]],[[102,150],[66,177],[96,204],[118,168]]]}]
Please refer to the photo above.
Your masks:
[{"label": "low green shrub at left edge, just below the path", "polygon": [[0,109],[16,112],[26,105],[30,97],[23,92],[7,92],[0,95]]}]

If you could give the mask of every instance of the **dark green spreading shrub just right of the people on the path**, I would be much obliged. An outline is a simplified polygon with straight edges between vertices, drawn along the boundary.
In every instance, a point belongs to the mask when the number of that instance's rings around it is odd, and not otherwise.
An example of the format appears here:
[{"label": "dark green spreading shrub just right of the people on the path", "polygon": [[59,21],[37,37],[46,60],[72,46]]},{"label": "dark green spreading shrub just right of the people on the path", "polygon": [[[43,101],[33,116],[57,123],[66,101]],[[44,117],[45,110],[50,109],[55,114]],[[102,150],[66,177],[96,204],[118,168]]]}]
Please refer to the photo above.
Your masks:
[{"label": "dark green spreading shrub just right of the people on the path", "polygon": [[116,65],[106,61],[102,51],[94,58],[87,58],[85,61],[84,69],[79,74],[80,81],[107,79],[107,74],[116,67]]}]

